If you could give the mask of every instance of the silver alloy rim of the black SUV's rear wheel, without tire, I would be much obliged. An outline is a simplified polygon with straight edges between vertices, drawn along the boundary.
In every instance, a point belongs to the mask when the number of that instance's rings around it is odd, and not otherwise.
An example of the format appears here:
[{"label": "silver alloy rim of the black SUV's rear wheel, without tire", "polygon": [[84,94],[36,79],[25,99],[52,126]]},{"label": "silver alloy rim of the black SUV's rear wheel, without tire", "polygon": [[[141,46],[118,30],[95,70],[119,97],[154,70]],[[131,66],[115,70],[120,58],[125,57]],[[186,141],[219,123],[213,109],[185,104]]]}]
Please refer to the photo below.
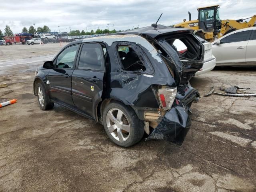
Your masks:
[{"label": "silver alloy rim of the black SUV's rear wheel, without tire", "polygon": [[130,123],[124,112],[118,108],[112,108],[106,115],[106,124],[111,136],[120,141],[126,141],[130,136]]}]

